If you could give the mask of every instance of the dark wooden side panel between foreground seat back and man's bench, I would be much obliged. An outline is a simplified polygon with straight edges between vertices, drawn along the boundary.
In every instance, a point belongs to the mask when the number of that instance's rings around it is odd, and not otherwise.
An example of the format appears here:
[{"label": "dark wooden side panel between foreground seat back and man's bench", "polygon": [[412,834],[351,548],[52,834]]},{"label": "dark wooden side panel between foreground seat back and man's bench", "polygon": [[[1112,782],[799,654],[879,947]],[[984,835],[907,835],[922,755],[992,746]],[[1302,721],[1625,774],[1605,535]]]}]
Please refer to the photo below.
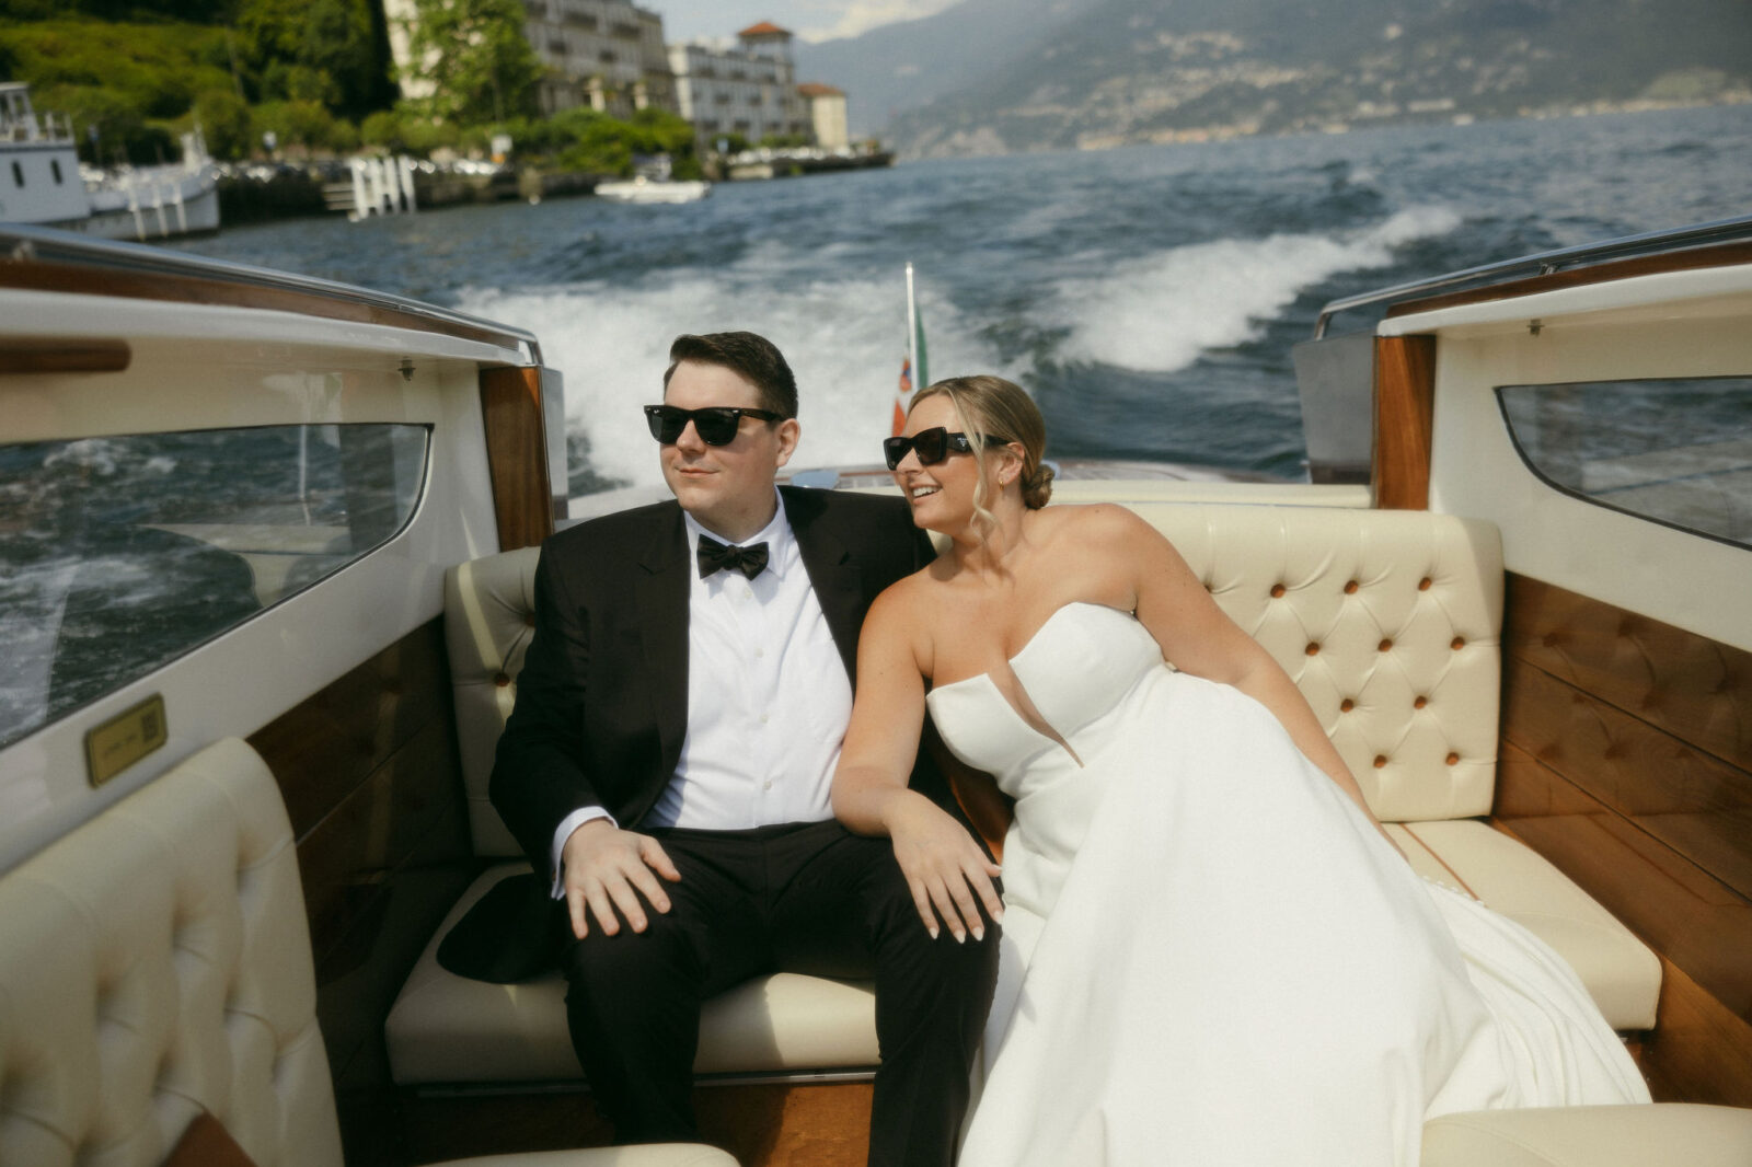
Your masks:
[{"label": "dark wooden side panel between foreground seat back and man's bench", "polygon": [[[478,869],[442,620],[427,620],[256,731],[280,785],[317,965],[317,1020],[349,1162],[398,1162],[384,1018]],[[357,1153],[356,1148],[359,1148]]]}]

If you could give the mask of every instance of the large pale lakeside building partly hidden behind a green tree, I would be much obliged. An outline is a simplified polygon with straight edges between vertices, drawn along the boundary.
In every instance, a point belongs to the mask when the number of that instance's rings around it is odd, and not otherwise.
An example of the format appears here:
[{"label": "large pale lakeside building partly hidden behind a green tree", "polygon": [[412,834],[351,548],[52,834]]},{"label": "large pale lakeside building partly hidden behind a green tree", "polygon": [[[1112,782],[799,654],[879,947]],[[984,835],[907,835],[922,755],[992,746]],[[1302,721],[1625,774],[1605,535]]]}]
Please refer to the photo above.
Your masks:
[{"label": "large pale lakeside building partly hidden behind a green tree", "polygon": [[[384,16],[401,93],[431,96],[431,82],[413,77],[413,0],[384,0]],[[524,0],[524,39],[547,70],[540,82],[543,114],[578,105],[613,117],[648,105],[682,112],[657,12],[631,0]]]}]

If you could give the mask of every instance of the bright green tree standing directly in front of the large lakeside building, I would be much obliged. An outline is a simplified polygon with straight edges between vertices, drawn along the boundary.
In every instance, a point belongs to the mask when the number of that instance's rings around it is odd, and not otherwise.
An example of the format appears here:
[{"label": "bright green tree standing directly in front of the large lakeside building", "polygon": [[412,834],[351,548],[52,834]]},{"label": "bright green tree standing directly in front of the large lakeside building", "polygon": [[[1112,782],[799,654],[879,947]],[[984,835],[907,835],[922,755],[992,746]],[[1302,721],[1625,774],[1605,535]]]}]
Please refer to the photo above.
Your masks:
[{"label": "bright green tree standing directly in front of the large lakeside building", "polygon": [[463,124],[536,112],[541,65],[524,40],[520,0],[413,0],[408,81],[433,88],[434,117]]}]

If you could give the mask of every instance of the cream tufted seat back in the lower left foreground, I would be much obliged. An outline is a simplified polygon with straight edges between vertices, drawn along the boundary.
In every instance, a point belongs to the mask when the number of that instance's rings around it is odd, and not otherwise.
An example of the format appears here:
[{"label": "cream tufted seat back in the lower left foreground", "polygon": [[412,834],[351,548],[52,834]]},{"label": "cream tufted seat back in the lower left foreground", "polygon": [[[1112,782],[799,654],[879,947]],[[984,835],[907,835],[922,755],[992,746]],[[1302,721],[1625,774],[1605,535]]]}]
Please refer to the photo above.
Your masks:
[{"label": "cream tufted seat back in the lower left foreground", "polygon": [[338,1167],[293,831],[219,741],[0,876],[0,1163],[156,1167],[208,1111]]}]

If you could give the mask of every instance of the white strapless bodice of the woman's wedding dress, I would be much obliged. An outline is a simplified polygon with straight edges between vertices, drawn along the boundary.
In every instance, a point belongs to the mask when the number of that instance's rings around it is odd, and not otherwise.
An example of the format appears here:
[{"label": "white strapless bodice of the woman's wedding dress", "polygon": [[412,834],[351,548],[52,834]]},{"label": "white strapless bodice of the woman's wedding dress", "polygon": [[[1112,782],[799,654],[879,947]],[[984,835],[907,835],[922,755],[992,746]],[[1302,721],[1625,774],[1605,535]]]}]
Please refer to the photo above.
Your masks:
[{"label": "white strapless bodice of the woman's wedding dress", "polygon": [[1069,603],[1046,619],[1009,668],[1063,745],[1023,717],[990,673],[937,685],[927,703],[950,750],[1021,797],[1088,766],[1102,746],[1104,722],[1163,664],[1156,640],[1132,613]]}]

